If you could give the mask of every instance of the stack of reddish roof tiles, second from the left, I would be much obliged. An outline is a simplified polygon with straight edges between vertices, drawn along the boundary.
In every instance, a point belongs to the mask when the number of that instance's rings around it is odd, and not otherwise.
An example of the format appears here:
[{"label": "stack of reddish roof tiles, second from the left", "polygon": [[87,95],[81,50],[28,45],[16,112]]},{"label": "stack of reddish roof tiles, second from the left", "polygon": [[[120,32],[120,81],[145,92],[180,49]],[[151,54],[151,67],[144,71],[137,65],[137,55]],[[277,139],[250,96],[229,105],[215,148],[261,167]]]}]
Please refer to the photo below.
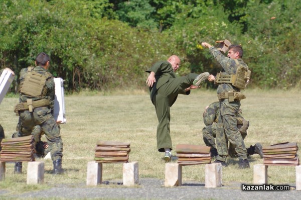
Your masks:
[{"label": "stack of reddish roof tiles, second from the left", "polygon": [[125,163],[128,162],[130,143],[98,141],[95,147],[96,162],[100,163]]}]

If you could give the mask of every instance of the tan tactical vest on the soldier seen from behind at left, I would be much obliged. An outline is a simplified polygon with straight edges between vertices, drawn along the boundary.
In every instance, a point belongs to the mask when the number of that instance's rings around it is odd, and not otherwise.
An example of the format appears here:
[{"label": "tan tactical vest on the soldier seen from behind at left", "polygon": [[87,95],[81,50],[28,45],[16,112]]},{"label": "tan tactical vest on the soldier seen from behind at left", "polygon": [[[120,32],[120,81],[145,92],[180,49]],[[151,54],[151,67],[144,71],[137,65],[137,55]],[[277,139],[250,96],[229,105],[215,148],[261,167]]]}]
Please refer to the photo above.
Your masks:
[{"label": "tan tactical vest on the soldier seen from behind at left", "polygon": [[40,74],[33,71],[34,67],[27,68],[24,81],[20,84],[20,92],[33,97],[45,96],[47,93],[46,80],[51,77],[51,73]]}]

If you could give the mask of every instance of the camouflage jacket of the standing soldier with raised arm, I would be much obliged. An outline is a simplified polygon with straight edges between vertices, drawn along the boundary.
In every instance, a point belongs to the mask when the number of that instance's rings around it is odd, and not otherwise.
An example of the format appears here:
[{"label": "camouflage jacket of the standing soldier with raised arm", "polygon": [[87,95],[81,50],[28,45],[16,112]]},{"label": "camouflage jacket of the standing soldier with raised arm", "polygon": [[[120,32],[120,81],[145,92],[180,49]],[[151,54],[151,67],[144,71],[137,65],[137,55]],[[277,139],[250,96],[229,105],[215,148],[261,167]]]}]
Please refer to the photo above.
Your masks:
[{"label": "camouflage jacket of the standing soldier with raised arm", "polygon": [[[236,64],[234,59],[228,58],[215,47],[210,47],[209,50],[210,50],[211,54],[214,56],[214,58],[222,65],[222,67],[223,67],[223,69],[221,71],[222,73],[229,74],[229,75],[236,74],[236,69],[237,69],[238,65]],[[246,68],[248,69],[247,64],[245,64],[242,59],[237,59],[237,60],[238,60],[239,64],[246,66]],[[222,92],[228,92],[228,91],[240,91],[240,89],[237,87],[234,87],[230,83],[222,83],[222,84],[219,84],[217,87],[218,94],[222,93]]]}]

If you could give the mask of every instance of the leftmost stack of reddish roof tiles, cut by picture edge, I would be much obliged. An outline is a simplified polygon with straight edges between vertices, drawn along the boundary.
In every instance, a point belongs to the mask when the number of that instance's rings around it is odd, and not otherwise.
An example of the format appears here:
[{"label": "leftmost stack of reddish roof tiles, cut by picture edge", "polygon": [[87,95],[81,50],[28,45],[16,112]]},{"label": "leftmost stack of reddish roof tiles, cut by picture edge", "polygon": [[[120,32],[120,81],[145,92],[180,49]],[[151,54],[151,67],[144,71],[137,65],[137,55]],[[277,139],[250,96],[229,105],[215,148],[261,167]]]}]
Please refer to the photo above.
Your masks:
[{"label": "leftmost stack of reddish roof tiles, cut by picture edge", "polygon": [[31,162],[35,161],[34,138],[32,135],[19,138],[6,138],[1,142],[0,161]]}]

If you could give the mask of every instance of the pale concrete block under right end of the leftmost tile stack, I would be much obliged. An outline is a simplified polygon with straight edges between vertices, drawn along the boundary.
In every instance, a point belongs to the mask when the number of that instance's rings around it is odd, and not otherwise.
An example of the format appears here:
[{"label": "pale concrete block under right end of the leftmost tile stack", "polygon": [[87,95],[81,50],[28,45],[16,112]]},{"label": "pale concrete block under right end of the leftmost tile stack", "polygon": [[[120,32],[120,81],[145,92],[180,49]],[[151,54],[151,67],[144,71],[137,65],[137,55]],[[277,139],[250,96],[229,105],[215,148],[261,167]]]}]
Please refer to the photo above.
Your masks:
[{"label": "pale concrete block under right end of the leftmost tile stack", "polygon": [[44,162],[28,162],[27,184],[39,184],[44,182]]}]

